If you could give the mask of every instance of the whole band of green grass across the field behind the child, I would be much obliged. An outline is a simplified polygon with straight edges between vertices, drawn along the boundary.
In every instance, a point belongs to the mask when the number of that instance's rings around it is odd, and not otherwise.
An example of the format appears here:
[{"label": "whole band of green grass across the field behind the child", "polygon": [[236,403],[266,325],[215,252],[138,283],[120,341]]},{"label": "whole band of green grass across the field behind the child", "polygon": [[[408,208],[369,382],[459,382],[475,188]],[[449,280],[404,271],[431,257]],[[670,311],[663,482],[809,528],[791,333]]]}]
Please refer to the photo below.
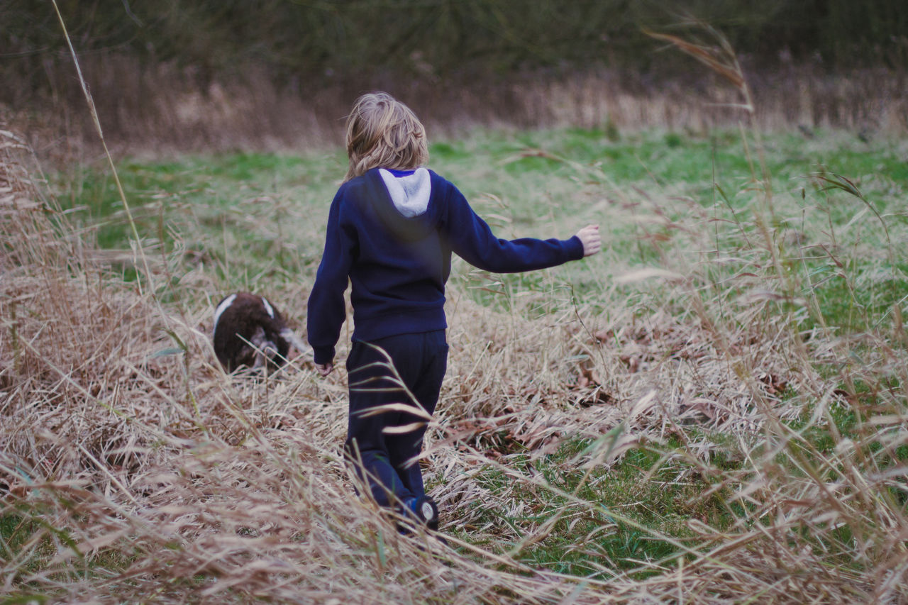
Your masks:
[{"label": "whole band of green grass across the field behind the child", "polygon": [[[568,287],[595,297],[622,271],[681,263],[685,272],[692,266],[704,272],[707,282],[718,284],[716,292],[735,274],[755,273],[775,281],[769,285],[784,295],[815,299],[805,328],[821,323],[817,312],[844,332],[888,325],[893,304],[908,295],[908,263],[893,264],[885,253],[900,252],[899,233],[908,224],[903,147],[871,146],[843,133],[809,141],[795,134],[765,137],[774,192],[769,227],[775,255],[791,275],[787,283],[779,283],[754,220],[761,202],[749,183],[760,170],[753,141],[748,148],[749,159],[735,131],[617,138],[580,129],[479,132],[432,144],[430,165],[458,184],[501,237],[565,238],[585,223],[604,225],[607,252],[583,265],[505,276],[461,267],[454,279],[479,302],[508,309],[508,293]],[[139,233],[160,246],[156,252],[179,254],[175,262],[183,267],[203,265],[225,288],[249,288],[265,279],[311,279],[344,169],[342,154],[331,150],[127,160],[119,172]],[[864,200],[809,176],[831,173],[852,179]],[[130,247],[132,232],[104,165],[55,183],[86,237],[104,248]],[[889,242],[873,212],[893,232]],[[707,230],[713,245],[746,263],[702,263],[697,248],[704,243],[688,242],[684,229]]]}]

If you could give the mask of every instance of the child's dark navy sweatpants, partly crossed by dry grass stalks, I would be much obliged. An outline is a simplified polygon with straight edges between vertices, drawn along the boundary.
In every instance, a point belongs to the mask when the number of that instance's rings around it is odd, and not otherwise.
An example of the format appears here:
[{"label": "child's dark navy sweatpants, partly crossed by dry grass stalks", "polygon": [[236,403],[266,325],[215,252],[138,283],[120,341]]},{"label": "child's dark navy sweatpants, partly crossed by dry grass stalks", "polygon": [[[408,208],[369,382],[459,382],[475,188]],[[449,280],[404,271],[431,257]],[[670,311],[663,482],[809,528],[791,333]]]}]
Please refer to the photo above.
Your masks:
[{"label": "child's dark navy sweatpants, partly crossed by dry grass stalks", "polygon": [[[400,334],[370,344],[390,355],[400,379],[419,405],[429,414],[435,412],[448,367],[445,332]],[[362,461],[366,477],[360,478],[368,482],[372,497],[381,506],[390,506],[395,497],[402,501],[425,495],[419,462],[414,459],[422,450],[426,427],[400,434],[383,432],[385,427],[424,420],[408,412],[362,415],[363,411],[385,403],[414,403],[407,392],[389,380],[392,373],[387,362],[385,355],[365,342],[354,341],[347,357],[350,423],[345,451],[358,472]]]}]

